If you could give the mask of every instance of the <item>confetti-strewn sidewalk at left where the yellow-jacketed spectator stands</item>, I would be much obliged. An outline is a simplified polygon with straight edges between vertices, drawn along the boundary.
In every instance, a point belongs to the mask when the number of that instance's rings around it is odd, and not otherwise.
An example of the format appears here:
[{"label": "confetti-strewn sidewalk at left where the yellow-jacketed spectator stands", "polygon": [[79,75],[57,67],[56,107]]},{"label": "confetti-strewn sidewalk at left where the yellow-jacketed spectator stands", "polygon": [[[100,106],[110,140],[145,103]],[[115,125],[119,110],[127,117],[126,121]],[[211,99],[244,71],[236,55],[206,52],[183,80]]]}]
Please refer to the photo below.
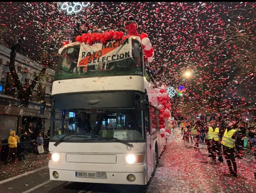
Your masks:
[{"label": "confetti-strewn sidewalk at left where the yellow-jacketed spectator stands", "polygon": [[0,181],[35,170],[48,164],[48,152],[41,155],[29,153],[26,157],[26,160],[17,161],[17,163],[9,165],[5,165],[4,162],[1,162]]}]

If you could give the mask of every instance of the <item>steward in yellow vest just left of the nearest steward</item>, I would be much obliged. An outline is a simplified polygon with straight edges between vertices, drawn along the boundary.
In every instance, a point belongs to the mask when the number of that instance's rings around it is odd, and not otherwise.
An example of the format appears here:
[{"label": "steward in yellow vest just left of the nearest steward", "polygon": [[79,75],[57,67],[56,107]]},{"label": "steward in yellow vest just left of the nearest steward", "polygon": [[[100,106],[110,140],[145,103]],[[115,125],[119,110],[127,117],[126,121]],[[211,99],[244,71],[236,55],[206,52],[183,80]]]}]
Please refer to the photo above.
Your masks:
[{"label": "steward in yellow vest just left of the nearest steward", "polygon": [[220,162],[223,162],[222,157],[222,151],[221,151],[221,145],[220,145],[220,131],[219,128],[216,126],[216,123],[214,120],[211,120],[210,126],[208,128],[207,138],[211,145],[211,157],[212,160],[216,161],[216,153],[218,155],[218,160]]}]

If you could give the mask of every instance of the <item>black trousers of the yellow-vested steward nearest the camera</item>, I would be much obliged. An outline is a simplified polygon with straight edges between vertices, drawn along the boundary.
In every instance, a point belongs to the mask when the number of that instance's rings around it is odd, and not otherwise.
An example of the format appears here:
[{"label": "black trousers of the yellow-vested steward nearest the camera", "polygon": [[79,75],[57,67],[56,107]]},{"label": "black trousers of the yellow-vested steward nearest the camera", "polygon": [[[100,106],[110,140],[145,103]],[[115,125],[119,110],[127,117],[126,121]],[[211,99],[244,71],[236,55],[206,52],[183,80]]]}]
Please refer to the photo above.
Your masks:
[{"label": "black trousers of the yellow-vested steward nearest the camera", "polygon": [[[228,167],[229,167],[229,172],[230,173],[237,173],[234,148],[229,148],[225,145],[222,145],[222,148],[223,148],[223,155],[224,155],[224,157],[227,161]],[[232,165],[233,165],[233,168],[232,168]]]}]

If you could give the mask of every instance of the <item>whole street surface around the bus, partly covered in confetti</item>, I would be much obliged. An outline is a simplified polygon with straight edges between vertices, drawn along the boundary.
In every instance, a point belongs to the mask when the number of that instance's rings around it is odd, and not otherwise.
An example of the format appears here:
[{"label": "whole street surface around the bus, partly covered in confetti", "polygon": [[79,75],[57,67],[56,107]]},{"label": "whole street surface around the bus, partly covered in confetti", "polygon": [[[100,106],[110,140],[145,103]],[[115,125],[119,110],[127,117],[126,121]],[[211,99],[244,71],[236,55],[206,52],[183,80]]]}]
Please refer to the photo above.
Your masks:
[{"label": "whole street surface around the bus, partly covered in confetti", "polygon": [[[179,129],[175,129],[166,151],[158,164],[155,177],[147,186],[92,184],[49,180],[47,157],[34,160],[19,170],[18,165],[6,166],[1,175],[0,193],[255,193],[255,160],[246,156],[237,160],[238,178],[228,176],[226,162],[212,165],[205,145],[200,150],[183,142]],[[35,158],[35,159],[39,159]],[[31,161],[30,161],[31,162]],[[41,163],[41,165],[39,164]],[[33,166],[33,168],[31,168]],[[13,168],[12,168],[13,167]],[[27,168],[25,170],[24,168]],[[5,171],[4,168],[0,172]],[[8,172],[7,172],[8,170]],[[16,174],[16,175],[12,175]],[[1,181],[2,180],[2,181]]]}]

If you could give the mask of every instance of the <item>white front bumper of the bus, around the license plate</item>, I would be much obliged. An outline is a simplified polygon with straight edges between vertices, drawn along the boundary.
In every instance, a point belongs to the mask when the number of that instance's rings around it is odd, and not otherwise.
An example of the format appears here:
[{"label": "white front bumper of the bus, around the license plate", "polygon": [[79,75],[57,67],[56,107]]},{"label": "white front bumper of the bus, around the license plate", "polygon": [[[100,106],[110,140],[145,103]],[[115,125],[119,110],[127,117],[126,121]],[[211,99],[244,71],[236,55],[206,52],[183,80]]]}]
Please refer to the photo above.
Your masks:
[{"label": "white front bumper of the bus, around the license plate", "polygon": [[[67,165],[67,166],[66,166]],[[106,166],[103,170],[102,166],[96,169],[92,165],[76,165],[76,168],[68,166],[69,164],[49,163],[50,180],[70,181],[70,182],[87,182],[87,183],[104,183],[104,184],[130,184],[130,185],[146,185],[147,184],[147,166]],[[112,171],[111,168],[113,168]],[[54,177],[54,173],[58,172],[58,178]],[[106,172],[106,178],[84,178],[76,177],[76,172]],[[135,180],[130,182],[128,175],[133,174]]]}]

